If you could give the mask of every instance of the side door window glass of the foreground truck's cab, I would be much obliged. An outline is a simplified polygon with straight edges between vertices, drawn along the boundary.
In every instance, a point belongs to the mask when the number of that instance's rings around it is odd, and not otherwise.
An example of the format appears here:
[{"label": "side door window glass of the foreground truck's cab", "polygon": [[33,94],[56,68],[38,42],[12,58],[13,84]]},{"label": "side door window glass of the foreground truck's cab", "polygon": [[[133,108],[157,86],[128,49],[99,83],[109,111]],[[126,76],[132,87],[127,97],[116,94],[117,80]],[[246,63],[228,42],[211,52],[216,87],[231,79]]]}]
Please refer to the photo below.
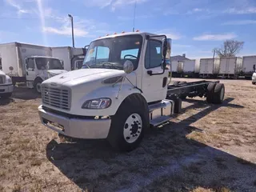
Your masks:
[{"label": "side door window glass of the foreground truck's cab", "polygon": [[150,40],[146,46],[145,67],[146,69],[162,66],[162,42]]}]

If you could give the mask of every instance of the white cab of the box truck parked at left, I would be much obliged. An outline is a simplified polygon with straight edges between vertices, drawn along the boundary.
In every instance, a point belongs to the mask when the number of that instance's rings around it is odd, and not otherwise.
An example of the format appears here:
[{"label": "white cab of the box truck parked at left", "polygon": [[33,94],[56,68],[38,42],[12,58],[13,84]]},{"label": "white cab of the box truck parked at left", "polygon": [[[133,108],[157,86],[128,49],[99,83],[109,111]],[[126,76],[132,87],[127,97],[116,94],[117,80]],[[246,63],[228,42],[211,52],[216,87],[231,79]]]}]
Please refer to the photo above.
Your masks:
[{"label": "white cab of the box truck parked at left", "polygon": [[66,72],[62,61],[46,56],[30,56],[26,61],[26,86],[41,93],[41,83],[47,78]]}]

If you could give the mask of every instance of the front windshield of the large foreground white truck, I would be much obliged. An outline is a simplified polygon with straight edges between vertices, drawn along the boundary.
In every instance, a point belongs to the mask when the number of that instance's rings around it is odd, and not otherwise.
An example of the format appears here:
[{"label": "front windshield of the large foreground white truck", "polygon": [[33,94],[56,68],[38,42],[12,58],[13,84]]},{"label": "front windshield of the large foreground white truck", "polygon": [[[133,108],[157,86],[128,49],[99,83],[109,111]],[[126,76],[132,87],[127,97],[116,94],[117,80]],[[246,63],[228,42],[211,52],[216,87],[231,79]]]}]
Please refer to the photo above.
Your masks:
[{"label": "front windshield of the large foreground white truck", "polygon": [[139,34],[96,40],[90,43],[82,68],[122,70],[124,62],[129,59],[136,70],[141,48],[142,36]]}]

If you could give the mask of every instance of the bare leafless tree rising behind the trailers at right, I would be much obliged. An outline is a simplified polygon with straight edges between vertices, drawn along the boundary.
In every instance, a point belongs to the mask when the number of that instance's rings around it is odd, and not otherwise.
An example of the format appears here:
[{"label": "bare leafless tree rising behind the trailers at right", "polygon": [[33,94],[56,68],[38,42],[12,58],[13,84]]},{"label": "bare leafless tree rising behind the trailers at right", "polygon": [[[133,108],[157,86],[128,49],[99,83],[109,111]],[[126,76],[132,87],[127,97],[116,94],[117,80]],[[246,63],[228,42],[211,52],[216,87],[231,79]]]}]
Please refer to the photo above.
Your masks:
[{"label": "bare leafless tree rising behind the trailers at right", "polygon": [[226,40],[223,42],[222,48],[214,48],[218,57],[235,57],[243,48],[244,42],[239,42],[236,40]]}]

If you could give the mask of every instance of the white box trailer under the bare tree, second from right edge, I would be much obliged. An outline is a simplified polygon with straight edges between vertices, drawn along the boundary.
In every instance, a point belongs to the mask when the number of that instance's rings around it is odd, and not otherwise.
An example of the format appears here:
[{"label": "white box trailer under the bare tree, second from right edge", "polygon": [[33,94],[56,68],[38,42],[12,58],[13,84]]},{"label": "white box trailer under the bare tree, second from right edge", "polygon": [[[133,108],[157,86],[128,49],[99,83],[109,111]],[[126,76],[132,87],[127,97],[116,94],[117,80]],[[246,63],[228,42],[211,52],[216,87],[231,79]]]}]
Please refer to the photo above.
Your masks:
[{"label": "white box trailer under the bare tree, second from right edge", "polygon": [[220,58],[219,74],[228,77],[238,77],[242,71],[242,58]]}]

